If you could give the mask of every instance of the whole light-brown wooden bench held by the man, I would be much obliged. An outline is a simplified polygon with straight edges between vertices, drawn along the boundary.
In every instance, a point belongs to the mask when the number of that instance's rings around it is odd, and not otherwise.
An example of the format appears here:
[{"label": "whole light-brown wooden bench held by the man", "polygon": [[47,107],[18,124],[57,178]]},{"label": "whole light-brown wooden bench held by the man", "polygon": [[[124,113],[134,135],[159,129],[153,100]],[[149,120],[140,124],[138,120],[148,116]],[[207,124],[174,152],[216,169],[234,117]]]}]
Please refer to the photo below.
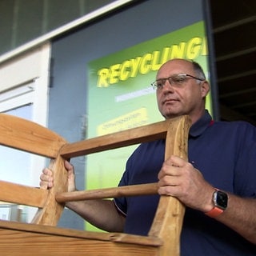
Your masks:
[{"label": "whole light-brown wooden bench held by the man", "polygon": [[[190,120],[186,116],[68,143],[45,127],[22,118],[0,114],[0,145],[50,158],[54,187],[42,190],[0,182],[0,201],[38,207],[32,223],[0,221],[1,255],[179,255],[184,206],[161,196],[147,236],[70,230],[56,227],[64,202],[156,194],[157,183],[102,190],[66,192],[65,159],[166,138],[166,155],[187,158]],[[20,170],[18,170],[20,171]],[[1,179],[1,177],[0,177]]]}]

